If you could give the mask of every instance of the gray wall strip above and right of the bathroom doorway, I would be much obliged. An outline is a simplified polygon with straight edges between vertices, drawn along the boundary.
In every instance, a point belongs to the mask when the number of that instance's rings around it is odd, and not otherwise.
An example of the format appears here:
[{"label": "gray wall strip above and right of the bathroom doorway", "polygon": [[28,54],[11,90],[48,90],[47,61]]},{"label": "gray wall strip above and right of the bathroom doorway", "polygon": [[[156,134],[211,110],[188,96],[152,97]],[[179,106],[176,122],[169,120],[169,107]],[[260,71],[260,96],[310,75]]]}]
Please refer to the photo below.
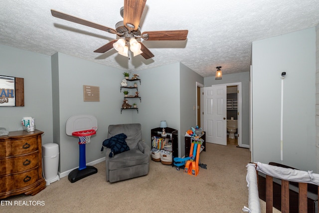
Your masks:
[{"label": "gray wall strip above and right of the bathroom doorway", "polygon": [[223,74],[223,79],[215,80],[213,77],[204,78],[204,87],[216,84],[241,82],[242,86],[242,144],[249,146],[249,70],[234,74]]}]

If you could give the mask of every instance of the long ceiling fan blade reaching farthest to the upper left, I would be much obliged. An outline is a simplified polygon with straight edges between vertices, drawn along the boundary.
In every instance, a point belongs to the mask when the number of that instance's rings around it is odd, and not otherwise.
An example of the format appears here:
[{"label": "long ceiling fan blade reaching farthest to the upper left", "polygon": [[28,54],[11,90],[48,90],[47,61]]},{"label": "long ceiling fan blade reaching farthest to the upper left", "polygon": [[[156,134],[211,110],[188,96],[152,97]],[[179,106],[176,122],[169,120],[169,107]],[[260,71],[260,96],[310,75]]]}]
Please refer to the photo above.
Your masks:
[{"label": "long ceiling fan blade reaching farthest to the upper left", "polygon": [[107,32],[110,32],[110,33],[114,33],[114,34],[116,33],[116,30],[113,29],[113,28],[110,28],[110,27],[107,27],[107,26],[103,26],[103,25],[100,25],[100,24],[97,24],[97,23],[94,23],[94,22],[91,22],[91,21],[87,21],[87,20],[72,16],[72,15],[68,15],[66,13],[56,11],[54,9],[51,9],[51,14],[54,17],[57,17],[57,18],[61,18],[61,19],[64,19],[64,20],[68,20],[68,21],[72,21],[72,22],[75,22],[75,23],[83,24],[83,25],[86,25],[86,26],[89,26],[89,27],[93,27],[93,28],[96,28],[96,29],[100,29],[100,30],[103,30],[103,31],[107,31]]}]

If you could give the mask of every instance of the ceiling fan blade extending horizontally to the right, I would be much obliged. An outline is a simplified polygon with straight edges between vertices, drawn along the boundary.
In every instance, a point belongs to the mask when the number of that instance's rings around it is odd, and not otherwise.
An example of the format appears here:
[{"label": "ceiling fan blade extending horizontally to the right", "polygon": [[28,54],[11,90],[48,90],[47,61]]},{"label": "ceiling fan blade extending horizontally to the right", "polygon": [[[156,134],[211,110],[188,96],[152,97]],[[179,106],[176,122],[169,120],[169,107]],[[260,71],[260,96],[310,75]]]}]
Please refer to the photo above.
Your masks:
[{"label": "ceiling fan blade extending horizontally to the right", "polygon": [[147,31],[142,33],[145,40],[186,40],[188,30]]}]

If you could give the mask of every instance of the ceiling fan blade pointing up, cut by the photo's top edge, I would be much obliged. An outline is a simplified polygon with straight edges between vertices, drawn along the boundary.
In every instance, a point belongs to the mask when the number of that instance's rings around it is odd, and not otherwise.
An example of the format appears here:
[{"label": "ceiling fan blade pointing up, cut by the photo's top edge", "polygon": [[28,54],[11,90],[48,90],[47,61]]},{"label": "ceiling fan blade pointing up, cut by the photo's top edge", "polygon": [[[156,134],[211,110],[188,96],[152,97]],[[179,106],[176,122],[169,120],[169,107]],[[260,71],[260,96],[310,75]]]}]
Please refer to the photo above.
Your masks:
[{"label": "ceiling fan blade pointing up, cut by the photo's top edge", "polygon": [[[145,4],[146,0],[124,0],[123,19],[125,27],[131,30],[137,30],[139,28]],[[134,25],[134,29],[127,24]]]}]

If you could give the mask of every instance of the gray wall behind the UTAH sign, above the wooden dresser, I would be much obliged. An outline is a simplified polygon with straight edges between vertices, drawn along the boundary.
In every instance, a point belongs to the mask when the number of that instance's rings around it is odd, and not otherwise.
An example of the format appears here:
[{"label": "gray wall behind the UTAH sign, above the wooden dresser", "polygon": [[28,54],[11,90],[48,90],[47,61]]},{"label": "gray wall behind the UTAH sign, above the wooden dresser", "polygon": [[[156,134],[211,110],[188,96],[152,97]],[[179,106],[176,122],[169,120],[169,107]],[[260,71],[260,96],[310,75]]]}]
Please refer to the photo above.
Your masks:
[{"label": "gray wall behind the UTAH sign, above the wooden dresser", "polygon": [[0,64],[0,75],[24,78],[24,107],[0,107],[0,127],[22,130],[22,117],[31,116],[42,143],[52,143],[50,56],[0,44]]}]

